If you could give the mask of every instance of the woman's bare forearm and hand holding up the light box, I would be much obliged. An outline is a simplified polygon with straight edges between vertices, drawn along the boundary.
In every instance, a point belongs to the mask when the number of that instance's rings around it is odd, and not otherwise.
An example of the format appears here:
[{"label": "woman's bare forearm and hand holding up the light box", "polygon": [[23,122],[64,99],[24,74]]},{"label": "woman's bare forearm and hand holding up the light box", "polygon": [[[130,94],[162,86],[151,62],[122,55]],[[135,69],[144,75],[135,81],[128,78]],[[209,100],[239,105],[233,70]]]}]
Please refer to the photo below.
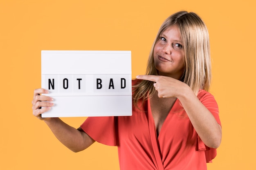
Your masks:
[{"label": "woman's bare forearm and hand holding up the light box", "polygon": [[48,92],[43,88],[39,88],[34,91],[34,98],[32,100],[33,115],[38,117],[40,120],[44,120],[56,138],[73,152],[79,152],[92,145],[94,140],[81,128],[73,128],[59,118],[41,117],[42,113],[45,113],[54,106],[54,104],[51,103],[53,101],[52,97],[39,95],[43,93]]}]

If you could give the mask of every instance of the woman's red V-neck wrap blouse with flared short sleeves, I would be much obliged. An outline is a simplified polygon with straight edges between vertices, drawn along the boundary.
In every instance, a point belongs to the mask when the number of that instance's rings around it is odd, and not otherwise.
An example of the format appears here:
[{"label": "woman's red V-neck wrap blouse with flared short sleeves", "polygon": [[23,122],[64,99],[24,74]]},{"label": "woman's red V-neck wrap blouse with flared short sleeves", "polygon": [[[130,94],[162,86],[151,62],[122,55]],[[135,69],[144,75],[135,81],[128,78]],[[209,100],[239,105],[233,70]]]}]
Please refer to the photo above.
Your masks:
[{"label": "woman's red V-neck wrap blouse with flared short sleeves", "polygon": [[[210,93],[198,98],[218,124],[218,105]],[[138,105],[140,106],[140,105]],[[149,100],[132,116],[88,117],[81,128],[95,141],[117,146],[121,170],[206,170],[216,149],[204,145],[177,99],[157,137]]]}]

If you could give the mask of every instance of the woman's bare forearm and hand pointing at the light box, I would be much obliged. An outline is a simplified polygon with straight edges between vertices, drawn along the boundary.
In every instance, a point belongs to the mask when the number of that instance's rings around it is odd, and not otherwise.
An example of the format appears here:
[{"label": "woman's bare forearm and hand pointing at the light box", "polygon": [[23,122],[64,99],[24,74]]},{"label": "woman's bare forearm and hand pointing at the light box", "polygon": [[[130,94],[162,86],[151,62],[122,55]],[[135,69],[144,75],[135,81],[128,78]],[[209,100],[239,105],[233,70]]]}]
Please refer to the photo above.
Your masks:
[{"label": "woman's bare forearm and hand pointing at the light box", "polygon": [[204,144],[210,148],[220,146],[221,126],[187,84],[166,76],[139,75],[137,78],[155,82],[158,97],[177,97]]}]

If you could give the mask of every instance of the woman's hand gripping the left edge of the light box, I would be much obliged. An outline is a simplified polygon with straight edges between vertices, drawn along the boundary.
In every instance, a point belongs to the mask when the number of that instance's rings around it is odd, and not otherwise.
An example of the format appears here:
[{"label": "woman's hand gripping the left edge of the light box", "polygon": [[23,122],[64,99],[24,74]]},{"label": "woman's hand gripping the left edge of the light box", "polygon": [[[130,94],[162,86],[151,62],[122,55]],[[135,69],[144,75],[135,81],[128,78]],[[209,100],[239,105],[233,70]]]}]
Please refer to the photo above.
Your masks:
[{"label": "woman's hand gripping the left edge of the light box", "polygon": [[33,115],[37,117],[40,120],[48,120],[50,118],[42,118],[41,114],[47,112],[51,109],[52,106],[54,106],[52,97],[40,95],[40,94],[47,94],[49,93],[44,88],[38,88],[34,91],[34,98],[32,100],[32,110]]}]

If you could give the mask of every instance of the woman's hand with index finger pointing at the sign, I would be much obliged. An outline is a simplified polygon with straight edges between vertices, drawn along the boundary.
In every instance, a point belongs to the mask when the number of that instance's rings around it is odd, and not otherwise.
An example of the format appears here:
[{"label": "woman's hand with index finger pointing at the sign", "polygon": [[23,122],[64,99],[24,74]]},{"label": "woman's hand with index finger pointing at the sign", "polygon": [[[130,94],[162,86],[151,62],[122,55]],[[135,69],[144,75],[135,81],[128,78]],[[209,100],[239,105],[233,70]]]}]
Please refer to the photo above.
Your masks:
[{"label": "woman's hand with index finger pointing at the sign", "polygon": [[179,97],[189,86],[177,79],[162,75],[137,75],[137,79],[149,80],[154,83],[159,98]]}]

